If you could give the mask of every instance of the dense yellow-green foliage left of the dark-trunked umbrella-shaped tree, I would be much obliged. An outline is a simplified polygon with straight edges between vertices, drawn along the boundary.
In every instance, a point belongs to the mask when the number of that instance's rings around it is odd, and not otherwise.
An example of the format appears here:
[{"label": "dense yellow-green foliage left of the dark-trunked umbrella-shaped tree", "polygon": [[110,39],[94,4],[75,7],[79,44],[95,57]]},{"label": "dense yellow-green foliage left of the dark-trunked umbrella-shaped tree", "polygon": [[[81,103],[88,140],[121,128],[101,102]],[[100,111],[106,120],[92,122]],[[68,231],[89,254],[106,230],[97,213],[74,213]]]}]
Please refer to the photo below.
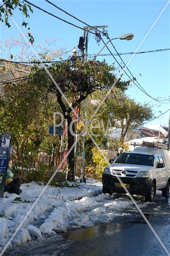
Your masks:
[{"label": "dense yellow-green foliage left of the dark-trunked umbrella-shaped tree", "polygon": [[42,143],[45,145],[44,141],[51,141],[52,146],[54,138],[48,134],[48,127],[59,108],[54,95],[46,94],[29,80],[5,84],[0,101],[1,132],[12,133],[12,144],[21,155],[23,151],[34,152]]}]

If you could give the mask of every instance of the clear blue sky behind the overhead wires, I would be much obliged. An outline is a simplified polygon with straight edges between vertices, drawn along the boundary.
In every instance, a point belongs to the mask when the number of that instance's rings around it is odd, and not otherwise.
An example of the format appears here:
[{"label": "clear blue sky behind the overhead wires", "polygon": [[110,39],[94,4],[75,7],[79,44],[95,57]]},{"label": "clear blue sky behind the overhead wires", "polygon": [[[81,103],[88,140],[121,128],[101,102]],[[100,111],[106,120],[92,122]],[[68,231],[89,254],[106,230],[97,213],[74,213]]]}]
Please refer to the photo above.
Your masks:
[{"label": "clear blue sky behind the overhead wires", "polygon": [[[52,1],[52,0],[51,0]],[[41,8],[52,12],[53,14],[68,20],[80,27],[83,24],[77,22],[66,14],[62,13],[55,7],[49,5],[44,0],[30,0],[30,2]],[[167,3],[167,1],[52,1],[59,7],[65,9],[72,15],[77,16],[84,22],[95,25],[108,25],[108,34],[110,38],[117,37],[125,33],[133,33],[134,38],[131,41],[114,40],[114,46],[118,52],[133,52],[140,44],[142,38],[148,32],[155,19]],[[22,16],[19,12],[14,11],[13,17],[20,25]],[[71,50],[78,45],[79,37],[83,35],[83,31],[68,24],[64,24],[60,20],[51,17],[33,7],[33,14],[30,14],[28,19],[29,26],[35,38],[36,44],[43,45],[45,37],[52,37],[57,39],[57,47],[66,47]],[[9,38],[17,38],[19,31],[11,21],[11,28],[8,29],[1,25],[1,40]],[[27,31],[22,28],[22,31]],[[107,41],[107,39],[105,39]],[[110,50],[114,53],[111,45],[108,45]],[[103,43],[96,44],[93,35],[90,36],[88,42],[88,52],[97,53],[103,47]],[[169,6],[166,8],[153,30],[143,42],[138,51],[148,51],[156,49],[169,48]],[[104,49],[102,53],[108,53]],[[128,62],[131,55],[122,56],[125,62]],[[117,60],[121,60],[116,56]],[[100,58],[102,59],[102,58]],[[114,61],[111,56],[105,57],[110,64]],[[117,65],[116,65],[117,67]],[[152,97],[161,99],[168,98],[169,92],[169,51],[158,53],[145,53],[135,55],[129,64],[129,69],[137,77],[138,82],[142,87],[152,95]],[[139,75],[141,74],[141,76]],[[124,79],[128,79],[124,76]],[[168,104],[160,104],[150,99],[143,94],[133,84],[127,91],[127,94],[138,102],[150,102],[154,105],[153,112],[155,116],[159,115],[170,108]],[[163,115],[161,118],[162,124],[168,124],[169,113]],[[151,124],[158,124],[159,119],[151,122]]]}]

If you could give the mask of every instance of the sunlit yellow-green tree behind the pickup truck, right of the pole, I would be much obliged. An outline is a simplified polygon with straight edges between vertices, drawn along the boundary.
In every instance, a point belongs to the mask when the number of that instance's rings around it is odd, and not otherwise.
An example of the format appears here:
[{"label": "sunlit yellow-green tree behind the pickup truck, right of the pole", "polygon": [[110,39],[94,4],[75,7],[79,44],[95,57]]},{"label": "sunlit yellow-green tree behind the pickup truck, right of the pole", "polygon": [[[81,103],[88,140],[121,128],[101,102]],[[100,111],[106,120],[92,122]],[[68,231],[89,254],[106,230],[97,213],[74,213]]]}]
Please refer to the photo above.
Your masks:
[{"label": "sunlit yellow-green tree behind the pickup truck, right of the pole", "polygon": [[[98,108],[99,103],[103,100],[105,92],[97,92],[91,95],[87,103],[87,118],[91,118]],[[95,140],[98,145],[104,147],[105,141],[111,141],[109,134],[112,133],[112,127],[121,129],[120,143],[124,142],[127,132],[132,131],[145,120],[152,118],[152,110],[149,104],[141,104],[130,99],[125,91],[114,88],[101,105],[101,108],[94,116],[92,129],[96,134]],[[100,123],[100,125],[99,125]],[[88,136],[87,136],[88,139]],[[113,144],[113,141],[112,141]]]}]

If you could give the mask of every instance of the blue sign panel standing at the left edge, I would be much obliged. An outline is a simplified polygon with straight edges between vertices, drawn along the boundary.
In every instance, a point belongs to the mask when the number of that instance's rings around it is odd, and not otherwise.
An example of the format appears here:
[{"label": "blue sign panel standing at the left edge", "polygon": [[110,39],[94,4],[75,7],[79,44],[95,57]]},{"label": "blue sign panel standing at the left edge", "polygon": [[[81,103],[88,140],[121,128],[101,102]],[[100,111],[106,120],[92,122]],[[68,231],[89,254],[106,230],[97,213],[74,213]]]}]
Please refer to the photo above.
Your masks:
[{"label": "blue sign panel standing at the left edge", "polygon": [[0,133],[0,197],[4,195],[5,180],[9,162],[11,134]]}]

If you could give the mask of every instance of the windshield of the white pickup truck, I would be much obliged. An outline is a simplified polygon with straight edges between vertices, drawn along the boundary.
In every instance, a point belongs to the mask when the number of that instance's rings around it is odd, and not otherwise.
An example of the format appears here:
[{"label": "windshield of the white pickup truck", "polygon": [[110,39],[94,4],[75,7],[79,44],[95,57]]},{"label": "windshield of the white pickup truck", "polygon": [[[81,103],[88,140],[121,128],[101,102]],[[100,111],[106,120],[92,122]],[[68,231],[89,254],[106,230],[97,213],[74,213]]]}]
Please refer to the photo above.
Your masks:
[{"label": "windshield of the white pickup truck", "polygon": [[122,153],[116,160],[115,163],[127,163],[127,164],[141,164],[154,166],[154,156],[135,154],[135,153]]}]

